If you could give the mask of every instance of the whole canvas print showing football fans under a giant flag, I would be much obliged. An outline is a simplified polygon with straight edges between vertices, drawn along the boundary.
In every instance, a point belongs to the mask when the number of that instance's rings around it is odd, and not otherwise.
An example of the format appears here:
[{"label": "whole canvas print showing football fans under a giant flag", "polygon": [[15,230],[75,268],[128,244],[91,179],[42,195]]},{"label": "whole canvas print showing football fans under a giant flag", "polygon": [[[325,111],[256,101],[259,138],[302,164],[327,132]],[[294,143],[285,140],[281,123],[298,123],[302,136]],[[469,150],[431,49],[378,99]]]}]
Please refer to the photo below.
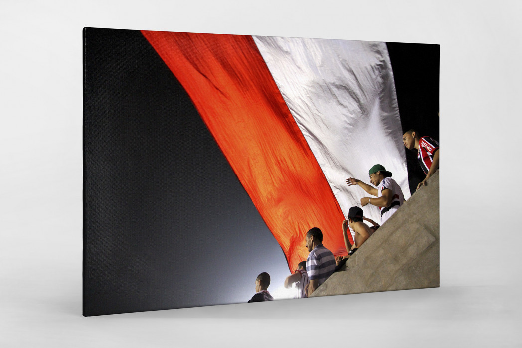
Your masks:
[{"label": "whole canvas print showing football fans under a giant flag", "polygon": [[439,285],[438,45],[83,40],[85,316]]}]

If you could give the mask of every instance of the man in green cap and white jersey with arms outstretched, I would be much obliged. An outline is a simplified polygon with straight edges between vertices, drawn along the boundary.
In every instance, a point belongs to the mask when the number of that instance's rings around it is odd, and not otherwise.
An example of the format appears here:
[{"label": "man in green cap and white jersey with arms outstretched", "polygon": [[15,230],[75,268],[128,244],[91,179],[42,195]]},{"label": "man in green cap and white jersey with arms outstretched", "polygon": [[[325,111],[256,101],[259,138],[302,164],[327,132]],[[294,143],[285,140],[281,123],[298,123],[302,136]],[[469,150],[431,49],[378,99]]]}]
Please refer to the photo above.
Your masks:
[{"label": "man in green cap and white jersey with arms outstretched", "polygon": [[368,171],[370,174],[370,183],[377,187],[363,183],[354,178],[346,179],[348,186],[359,185],[370,195],[377,198],[363,197],[361,198],[361,206],[371,204],[381,209],[381,225],[386,222],[402,204],[404,204],[404,194],[399,184],[392,179],[392,172],[386,170],[384,165],[375,164]]}]

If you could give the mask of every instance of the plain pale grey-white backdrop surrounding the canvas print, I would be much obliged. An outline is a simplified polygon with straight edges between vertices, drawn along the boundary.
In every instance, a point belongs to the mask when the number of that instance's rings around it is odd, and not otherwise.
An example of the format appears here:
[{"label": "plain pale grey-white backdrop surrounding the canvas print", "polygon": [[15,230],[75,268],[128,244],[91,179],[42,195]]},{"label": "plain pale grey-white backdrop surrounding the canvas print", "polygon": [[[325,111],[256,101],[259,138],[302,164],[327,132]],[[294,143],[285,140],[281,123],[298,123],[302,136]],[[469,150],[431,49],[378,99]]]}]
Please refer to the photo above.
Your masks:
[{"label": "plain pale grey-white backdrop surrounding the canvas print", "polygon": [[[3,0],[0,346],[522,346],[521,4]],[[82,317],[83,27],[440,44],[440,289]]]}]

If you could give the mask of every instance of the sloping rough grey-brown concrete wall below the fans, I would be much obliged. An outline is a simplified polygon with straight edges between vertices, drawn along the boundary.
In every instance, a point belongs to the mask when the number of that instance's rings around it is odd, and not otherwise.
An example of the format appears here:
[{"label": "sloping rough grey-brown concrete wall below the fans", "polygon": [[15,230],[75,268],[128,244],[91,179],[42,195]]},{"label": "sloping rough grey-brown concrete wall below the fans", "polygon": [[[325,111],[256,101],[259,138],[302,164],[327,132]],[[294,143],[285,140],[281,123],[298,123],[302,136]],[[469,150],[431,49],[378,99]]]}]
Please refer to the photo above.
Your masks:
[{"label": "sloping rough grey-brown concrete wall below the fans", "polygon": [[427,184],[311,297],[438,287],[438,171]]}]

